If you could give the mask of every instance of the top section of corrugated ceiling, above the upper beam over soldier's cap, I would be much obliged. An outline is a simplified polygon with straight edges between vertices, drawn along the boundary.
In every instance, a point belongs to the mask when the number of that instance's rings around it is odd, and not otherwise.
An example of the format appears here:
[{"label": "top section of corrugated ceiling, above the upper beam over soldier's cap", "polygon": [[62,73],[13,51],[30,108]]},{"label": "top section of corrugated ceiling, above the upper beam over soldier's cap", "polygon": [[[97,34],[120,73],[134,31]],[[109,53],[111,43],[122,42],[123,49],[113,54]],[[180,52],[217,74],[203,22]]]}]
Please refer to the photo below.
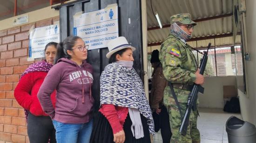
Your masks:
[{"label": "top section of corrugated ceiling, above the upper beam over soldier's cap", "polygon": [[[147,0],[147,22],[148,27],[155,27],[158,23],[150,1]],[[232,0],[152,0],[152,8],[159,14],[162,24],[167,25],[170,16],[178,13],[190,13],[194,20],[232,13]]]}]

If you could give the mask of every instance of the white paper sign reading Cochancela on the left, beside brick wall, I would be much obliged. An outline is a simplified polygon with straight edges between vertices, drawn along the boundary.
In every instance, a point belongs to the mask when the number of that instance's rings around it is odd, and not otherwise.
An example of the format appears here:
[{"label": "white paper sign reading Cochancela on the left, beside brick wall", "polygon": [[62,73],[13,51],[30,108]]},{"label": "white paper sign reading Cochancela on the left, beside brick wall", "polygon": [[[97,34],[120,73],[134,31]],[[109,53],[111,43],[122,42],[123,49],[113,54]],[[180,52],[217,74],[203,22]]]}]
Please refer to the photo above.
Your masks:
[{"label": "white paper sign reading Cochancela on the left, beside brick wall", "polygon": [[43,58],[49,42],[60,42],[59,24],[35,28],[29,34],[29,58]]}]

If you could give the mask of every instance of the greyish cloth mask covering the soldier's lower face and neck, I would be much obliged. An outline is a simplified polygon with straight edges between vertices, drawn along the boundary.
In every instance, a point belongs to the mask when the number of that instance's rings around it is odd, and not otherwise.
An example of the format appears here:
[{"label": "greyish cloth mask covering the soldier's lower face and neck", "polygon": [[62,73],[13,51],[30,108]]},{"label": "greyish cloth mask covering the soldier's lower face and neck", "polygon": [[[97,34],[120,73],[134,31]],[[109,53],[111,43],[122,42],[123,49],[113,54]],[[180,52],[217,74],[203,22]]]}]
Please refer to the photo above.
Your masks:
[{"label": "greyish cloth mask covering the soldier's lower face and neck", "polygon": [[189,40],[191,38],[191,35],[187,34],[180,26],[178,26],[176,23],[173,23],[170,26],[170,32],[174,35],[176,35],[178,38],[183,39],[185,41]]}]

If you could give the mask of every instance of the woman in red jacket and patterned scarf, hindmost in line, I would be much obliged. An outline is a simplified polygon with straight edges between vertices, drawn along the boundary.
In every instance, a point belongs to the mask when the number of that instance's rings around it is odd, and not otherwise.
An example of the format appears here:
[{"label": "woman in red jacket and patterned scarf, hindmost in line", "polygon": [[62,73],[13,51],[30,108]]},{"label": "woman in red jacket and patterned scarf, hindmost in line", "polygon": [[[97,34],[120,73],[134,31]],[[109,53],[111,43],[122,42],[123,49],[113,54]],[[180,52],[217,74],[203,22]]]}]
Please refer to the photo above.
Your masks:
[{"label": "woman in red jacket and patterned scarf, hindmost in line", "polygon": [[[14,97],[25,110],[27,119],[27,134],[30,143],[56,143],[55,129],[51,118],[42,110],[37,98],[47,72],[54,63],[57,43],[50,42],[45,47],[45,60],[30,65],[20,76],[20,81],[14,90]],[[55,91],[51,94],[55,105]]]}]

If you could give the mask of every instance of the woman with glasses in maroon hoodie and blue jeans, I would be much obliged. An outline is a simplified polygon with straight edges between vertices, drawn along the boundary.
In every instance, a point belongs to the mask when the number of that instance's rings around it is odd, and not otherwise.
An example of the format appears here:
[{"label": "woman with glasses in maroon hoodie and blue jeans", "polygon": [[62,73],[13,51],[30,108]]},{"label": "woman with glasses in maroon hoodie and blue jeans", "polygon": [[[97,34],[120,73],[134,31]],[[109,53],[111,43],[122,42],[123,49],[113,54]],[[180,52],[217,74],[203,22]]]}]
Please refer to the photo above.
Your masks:
[{"label": "woman with glasses in maroon hoodie and blue jeans", "polygon": [[[57,45],[57,63],[37,94],[43,110],[53,119],[57,143],[88,143],[92,132],[91,88],[93,69],[86,62],[87,48],[77,36]],[[50,94],[56,89],[56,107]]]}]

